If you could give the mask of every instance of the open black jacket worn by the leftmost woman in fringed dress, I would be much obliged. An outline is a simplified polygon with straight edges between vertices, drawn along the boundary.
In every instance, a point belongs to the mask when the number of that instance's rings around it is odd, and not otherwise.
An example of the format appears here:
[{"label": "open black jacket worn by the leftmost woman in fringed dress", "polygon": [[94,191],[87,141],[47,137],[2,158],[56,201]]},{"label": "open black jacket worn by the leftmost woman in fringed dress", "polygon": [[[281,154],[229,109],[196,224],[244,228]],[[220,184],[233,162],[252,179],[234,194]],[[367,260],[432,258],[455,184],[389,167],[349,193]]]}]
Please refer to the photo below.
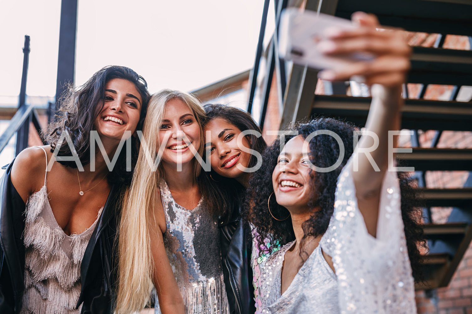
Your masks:
[{"label": "open black jacket worn by the leftmost woman in fringed dress", "polygon": [[[0,313],[19,313],[24,285],[25,203],[10,180],[13,162],[0,181]],[[99,222],[85,249],[80,269],[82,289],[77,307],[82,303],[83,314],[112,313],[115,259],[112,258],[116,231],[115,211],[120,197],[118,185],[113,185]]]}]

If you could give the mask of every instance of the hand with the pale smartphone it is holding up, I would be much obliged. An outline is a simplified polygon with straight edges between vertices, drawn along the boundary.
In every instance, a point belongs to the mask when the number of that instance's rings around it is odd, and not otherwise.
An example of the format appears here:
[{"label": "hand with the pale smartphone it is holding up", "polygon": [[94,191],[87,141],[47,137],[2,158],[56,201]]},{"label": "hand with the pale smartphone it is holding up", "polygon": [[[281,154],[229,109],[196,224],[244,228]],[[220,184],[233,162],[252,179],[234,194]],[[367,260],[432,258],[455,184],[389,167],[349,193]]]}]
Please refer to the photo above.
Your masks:
[{"label": "hand with the pale smartphone it is holding up", "polygon": [[373,15],[355,12],[353,23],[339,17],[289,8],[282,12],[279,55],[320,72],[321,79],[386,86],[405,83],[411,48],[404,34],[381,27]]}]

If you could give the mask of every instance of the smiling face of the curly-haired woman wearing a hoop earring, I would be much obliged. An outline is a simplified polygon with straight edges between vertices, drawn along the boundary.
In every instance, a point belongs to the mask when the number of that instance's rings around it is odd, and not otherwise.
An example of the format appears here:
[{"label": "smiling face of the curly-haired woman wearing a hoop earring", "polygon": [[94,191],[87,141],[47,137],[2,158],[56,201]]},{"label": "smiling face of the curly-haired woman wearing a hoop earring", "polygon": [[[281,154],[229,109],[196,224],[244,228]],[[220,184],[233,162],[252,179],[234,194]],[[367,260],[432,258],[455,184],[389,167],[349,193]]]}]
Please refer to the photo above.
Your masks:
[{"label": "smiling face of the curly-haired woman wearing a hoop earring", "polygon": [[272,172],[272,186],[277,203],[292,214],[309,211],[307,204],[310,201],[312,178],[310,160],[303,157],[303,142],[301,135],[287,141]]}]

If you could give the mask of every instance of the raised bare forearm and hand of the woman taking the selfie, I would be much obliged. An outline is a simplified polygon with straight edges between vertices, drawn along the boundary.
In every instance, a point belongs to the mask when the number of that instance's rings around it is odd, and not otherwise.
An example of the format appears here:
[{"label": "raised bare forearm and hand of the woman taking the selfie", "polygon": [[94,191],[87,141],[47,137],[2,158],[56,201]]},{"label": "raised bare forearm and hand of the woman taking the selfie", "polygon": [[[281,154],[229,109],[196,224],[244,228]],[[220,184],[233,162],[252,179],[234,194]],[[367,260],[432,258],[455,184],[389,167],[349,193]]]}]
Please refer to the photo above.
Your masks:
[{"label": "raised bare forearm and hand of the woman taking the selfie", "polygon": [[[362,76],[371,86],[372,103],[366,122],[366,130],[374,132],[379,146],[370,154],[377,165],[374,168],[366,154],[358,154],[358,171],[353,172],[359,210],[367,231],[376,236],[379,213],[380,188],[388,170],[388,131],[400,129],[402,83],[410,68],[411,48],[403,34],[393,30],[376,30],[376,17],[356,12],[352,17],[359,25],[353,31],[332,32],[329,41],[320,49],[327,54],[367,52],[375,56],[371,61],[352,63],[340,71],[323,71],[322,79],[347,80],[354,75]],[[368,149],[374,145],[371,136],[362,136],[358,148]],[[393,147],[396,147],[394,138]]]}]

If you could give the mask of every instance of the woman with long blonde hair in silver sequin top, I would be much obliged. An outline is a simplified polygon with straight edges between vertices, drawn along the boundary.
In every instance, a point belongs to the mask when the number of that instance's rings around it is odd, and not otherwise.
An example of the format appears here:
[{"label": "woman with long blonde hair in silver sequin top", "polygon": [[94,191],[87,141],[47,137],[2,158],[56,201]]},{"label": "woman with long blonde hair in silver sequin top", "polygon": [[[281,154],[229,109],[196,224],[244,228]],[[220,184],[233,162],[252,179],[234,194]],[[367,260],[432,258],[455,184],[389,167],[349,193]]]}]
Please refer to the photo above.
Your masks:
[{"label": "woman with long blonde hair in silver sequin top", "polygon": [[152,95],[118,231],[118,314],[143,308],[152,285],[156,313],[228,312],[218,228],[226,206],[201,171],[204,117],[191,94]]}]

